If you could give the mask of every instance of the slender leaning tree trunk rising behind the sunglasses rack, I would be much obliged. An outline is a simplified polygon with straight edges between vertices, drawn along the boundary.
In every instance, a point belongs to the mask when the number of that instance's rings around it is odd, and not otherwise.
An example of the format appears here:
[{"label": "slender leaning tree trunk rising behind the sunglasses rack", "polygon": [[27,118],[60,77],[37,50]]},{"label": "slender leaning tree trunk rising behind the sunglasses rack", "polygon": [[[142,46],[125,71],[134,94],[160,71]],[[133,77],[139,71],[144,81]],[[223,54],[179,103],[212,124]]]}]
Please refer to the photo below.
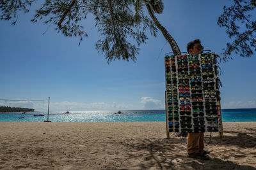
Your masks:
[{"label": "slender leaning tree trunk rising behind the sunglasses rack", "polygon": [[170,44],[172,51],[175,55],[181,55],[180,52],[180,48],[177,45],[176,41],[172,38],[172,36],[169,34],[168,31],[166,31],[166,29],[163,27],[163,25],[161,25],[159,23],[159,21],[157,20],[156,16],[154,15],[154,13],[152,12],[152,10],[150,9],[150,4],[147,2],[147,0],[143,0],[145,5],[147,6],[147,10],[148,10],[148,14],[150,15],[150,17],[152,18],[152,20],[154,21],[154,23],[156,24],[157,28],[162,32],[164,38],[168,41],[168,43]]}]

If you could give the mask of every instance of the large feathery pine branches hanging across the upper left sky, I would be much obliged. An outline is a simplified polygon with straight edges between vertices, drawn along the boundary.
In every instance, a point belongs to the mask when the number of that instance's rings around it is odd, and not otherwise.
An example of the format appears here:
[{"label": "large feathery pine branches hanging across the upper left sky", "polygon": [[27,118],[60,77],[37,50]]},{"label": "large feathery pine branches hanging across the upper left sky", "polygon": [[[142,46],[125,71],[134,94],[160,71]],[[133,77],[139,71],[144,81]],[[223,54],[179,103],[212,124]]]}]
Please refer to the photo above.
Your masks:
[{"label": "large feathery pine branches hanging across the upper left sky", "polygon": [[[140,50],[139,46],[148,39],[146,33],[150,32],[152,36],[156,36],[157,27],[150,18],[143,13],[134,16],[134,0],[111,0],[113,13],[109,10],[108,0],[77,0],[71,8],[70,0],[36,2],[42,4],[35,11],[31,22],[42,20],[45,24],[54,25],[56,31],[65,36],[77,36],[80,39],[79,45],[83,38],[88,36],[84,31],[86,25],[83,25],[83,20],[86,20],[88,14],[92,14],[95,27],[100,33],[100,39],[95,46],[99,53],[105,55],[108,63],[116,59],[135,61]],[[29,12],[32,3],[35,3],[35,0],[0,1],[0,19],[12,20],[15,24],[17,12]],[[58,25],[69,8],[63,22]]]}]

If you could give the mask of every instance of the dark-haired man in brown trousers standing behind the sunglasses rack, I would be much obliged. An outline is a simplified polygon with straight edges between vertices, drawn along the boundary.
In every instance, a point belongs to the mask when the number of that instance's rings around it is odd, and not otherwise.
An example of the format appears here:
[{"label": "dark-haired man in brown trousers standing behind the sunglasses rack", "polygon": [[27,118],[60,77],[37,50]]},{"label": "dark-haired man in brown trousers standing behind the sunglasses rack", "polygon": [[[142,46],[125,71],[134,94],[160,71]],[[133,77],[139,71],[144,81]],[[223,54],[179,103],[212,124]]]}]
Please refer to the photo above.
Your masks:
[{"label": "dark-haired man in brown trousers standing behind the sunglasses rack", "polygon": [[[195,39],[187,45],[189,54],[202,53],[204,46],[200,39]],[[188,134],[188,157],[195,159],[209,160],[205,155],[209,152],[204,151],[204,132],[191,132]]]}]

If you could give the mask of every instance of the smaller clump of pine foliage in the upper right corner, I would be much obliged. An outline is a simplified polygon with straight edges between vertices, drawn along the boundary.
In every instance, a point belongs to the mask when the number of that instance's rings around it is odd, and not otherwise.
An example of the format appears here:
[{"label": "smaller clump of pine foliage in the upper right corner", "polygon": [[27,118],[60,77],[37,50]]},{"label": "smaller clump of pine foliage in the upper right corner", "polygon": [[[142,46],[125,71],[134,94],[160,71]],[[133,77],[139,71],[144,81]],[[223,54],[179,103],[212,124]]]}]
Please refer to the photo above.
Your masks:
[{"label": "smaller clump of pine foliage in the upper right corner", "polygon": [[[256,20],[255,0],[233,0],[234,4],[223,7],[223,13],[218,19],[218,25],[225,27],[232,43],[227,43],[223,49],[223,59],[227,61],[232,52],[241,57],[250,57],[256,52]],[[240,27],[243,25],[244,27]]]}]

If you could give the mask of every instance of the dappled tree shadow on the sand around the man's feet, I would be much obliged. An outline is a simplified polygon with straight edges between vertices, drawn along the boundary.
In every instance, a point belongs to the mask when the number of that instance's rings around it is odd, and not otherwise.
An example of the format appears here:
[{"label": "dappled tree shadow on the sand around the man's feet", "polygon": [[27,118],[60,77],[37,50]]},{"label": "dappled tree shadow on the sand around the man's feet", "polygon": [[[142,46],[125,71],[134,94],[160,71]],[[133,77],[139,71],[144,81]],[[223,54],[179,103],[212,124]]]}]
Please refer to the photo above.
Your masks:
[{"label": "dappled tree shadow on the sand around the man's feet", "polygon": [[[254,131],[254,129],[250,129]],[[238,146],[241,149],[255,147],[256,140],[249,134],[241,132],[225,132],[236,133],[235,136],[225,136],[222,140],[218,136],[212,137],[211,145],[220,146]],[[186,142],[180,141],[180,138],[159,139],[159,140],[144,140],[144,141],[126,141],[125,146],[131,148],[132,152],[127,153],[127,161],[134,162],[140,160],[135,169],[255,169],[252,166],[243,166],[232,162],[232,160],[222,160],[209,155],[210,160],[191,159],[187,157]],[[140,152],[140,154],[138,154]],[[220,152],[220,151],[219,151]],[[245,152],[245,151],[244,151]],[[213,152],[214,153],[214,152]],[[223,155],[232,155],[234,152],[223,152]],[[246,157],[243,152],[240,154],[241,158]],[[218,155],[218,153],[217,153]],[[234,154],[234,156],[236,156]],[[229,157],[227,158],[229,159]]]}]

